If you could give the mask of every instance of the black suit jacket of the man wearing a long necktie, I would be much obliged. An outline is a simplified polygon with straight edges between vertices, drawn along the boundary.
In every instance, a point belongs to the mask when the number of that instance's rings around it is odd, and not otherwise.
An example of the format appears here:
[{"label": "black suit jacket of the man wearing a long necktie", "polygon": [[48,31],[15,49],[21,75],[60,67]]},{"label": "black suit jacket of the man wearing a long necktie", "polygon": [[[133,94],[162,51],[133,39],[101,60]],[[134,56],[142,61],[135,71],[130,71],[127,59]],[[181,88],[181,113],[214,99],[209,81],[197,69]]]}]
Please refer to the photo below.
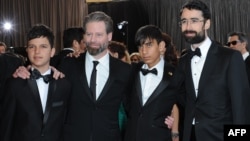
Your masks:
[{"label": "black suit jacket of the man wearing a long necktie", "polygon": [[130,79],[131,66],[110,56],[109,78],[97,100],[91,96],[85,72],[85,55],[66,58],[61,70],[72,83],[66,119],[66,141],[119,141],[118,110]]}]

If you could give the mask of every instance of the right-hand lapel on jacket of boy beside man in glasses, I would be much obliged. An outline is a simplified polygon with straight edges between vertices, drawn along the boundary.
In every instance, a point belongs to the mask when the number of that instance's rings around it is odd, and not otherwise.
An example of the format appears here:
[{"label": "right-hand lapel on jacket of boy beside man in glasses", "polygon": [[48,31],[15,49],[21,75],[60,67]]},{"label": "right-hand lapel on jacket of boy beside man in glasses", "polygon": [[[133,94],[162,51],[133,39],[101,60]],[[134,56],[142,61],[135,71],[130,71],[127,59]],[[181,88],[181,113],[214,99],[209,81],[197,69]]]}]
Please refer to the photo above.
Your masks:
[{"label": "right-hand lapel on jacket of boy beside man in glasses", "polygon": [[144,106],[152,102],[155,98],[157,98],[159,94],[162,93],[162,91],[164,91],[168,87],[170,78],[172,77],[173,74],[174,72],[172,70],[169,70],[165,64],[163,78],[161,82],[159,83],[159,85],[156,87],[156,89],[153,91],[152,95],[148,98]]}]

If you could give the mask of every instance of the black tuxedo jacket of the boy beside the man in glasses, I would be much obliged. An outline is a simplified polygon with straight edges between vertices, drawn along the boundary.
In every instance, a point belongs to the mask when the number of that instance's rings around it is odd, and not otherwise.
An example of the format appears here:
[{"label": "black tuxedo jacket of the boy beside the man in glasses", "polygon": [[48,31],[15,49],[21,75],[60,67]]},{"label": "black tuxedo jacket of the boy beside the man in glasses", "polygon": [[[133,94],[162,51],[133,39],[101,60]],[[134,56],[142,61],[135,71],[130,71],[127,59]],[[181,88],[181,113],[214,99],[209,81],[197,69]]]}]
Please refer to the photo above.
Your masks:
[{"label": "black tuxedo jacket of the boy beside the man in glasses", "polygon": [[177,85],[172,81],[175,68],[165,63],[163,79],[143,105],[139,73],[142,65],[138,63],[133,72],[132,93],[126,106],[128,123],[125,141],[171,141],[171,130],[164,124],[164,119],[171,115],[176,102]]}]

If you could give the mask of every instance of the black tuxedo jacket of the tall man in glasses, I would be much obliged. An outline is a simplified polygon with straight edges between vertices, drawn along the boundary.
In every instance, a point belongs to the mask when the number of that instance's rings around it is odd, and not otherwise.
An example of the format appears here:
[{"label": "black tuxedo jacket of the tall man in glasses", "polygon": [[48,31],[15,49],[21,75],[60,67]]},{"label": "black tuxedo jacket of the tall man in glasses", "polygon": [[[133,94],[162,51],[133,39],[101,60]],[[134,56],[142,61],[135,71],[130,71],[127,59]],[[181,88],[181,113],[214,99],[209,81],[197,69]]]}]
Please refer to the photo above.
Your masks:
[{"label": "black tuxedo jacket of the tall man in glasses", "polygon": [[195,117],[199,141],[223,141],[225,124],[248,124],[250,90],[240,52],[212,42],[195,95],[188,54],[179,60],[185,74],[186,104],[183,141],[189,141]]}]

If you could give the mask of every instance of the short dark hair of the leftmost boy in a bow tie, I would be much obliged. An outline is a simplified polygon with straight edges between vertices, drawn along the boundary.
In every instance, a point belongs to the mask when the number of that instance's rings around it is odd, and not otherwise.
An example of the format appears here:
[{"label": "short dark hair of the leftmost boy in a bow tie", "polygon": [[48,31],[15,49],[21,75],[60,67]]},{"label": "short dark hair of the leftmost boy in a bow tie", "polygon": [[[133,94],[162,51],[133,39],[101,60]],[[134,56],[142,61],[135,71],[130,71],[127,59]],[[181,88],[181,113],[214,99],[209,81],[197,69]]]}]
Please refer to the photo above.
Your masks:
[{"label": "short dark hair of the leftmost boy in a bow tie", "polygon": [[27,41],[30,41],[32,39],[35,38],[39,38],[39,37],[45,37],[49,40],[50,46],[51,48],[54,47],[54,34],[52,32],[52,30],[44,25],[44,24],[36,24],[34,25],[28,32],[27,34]]}]

